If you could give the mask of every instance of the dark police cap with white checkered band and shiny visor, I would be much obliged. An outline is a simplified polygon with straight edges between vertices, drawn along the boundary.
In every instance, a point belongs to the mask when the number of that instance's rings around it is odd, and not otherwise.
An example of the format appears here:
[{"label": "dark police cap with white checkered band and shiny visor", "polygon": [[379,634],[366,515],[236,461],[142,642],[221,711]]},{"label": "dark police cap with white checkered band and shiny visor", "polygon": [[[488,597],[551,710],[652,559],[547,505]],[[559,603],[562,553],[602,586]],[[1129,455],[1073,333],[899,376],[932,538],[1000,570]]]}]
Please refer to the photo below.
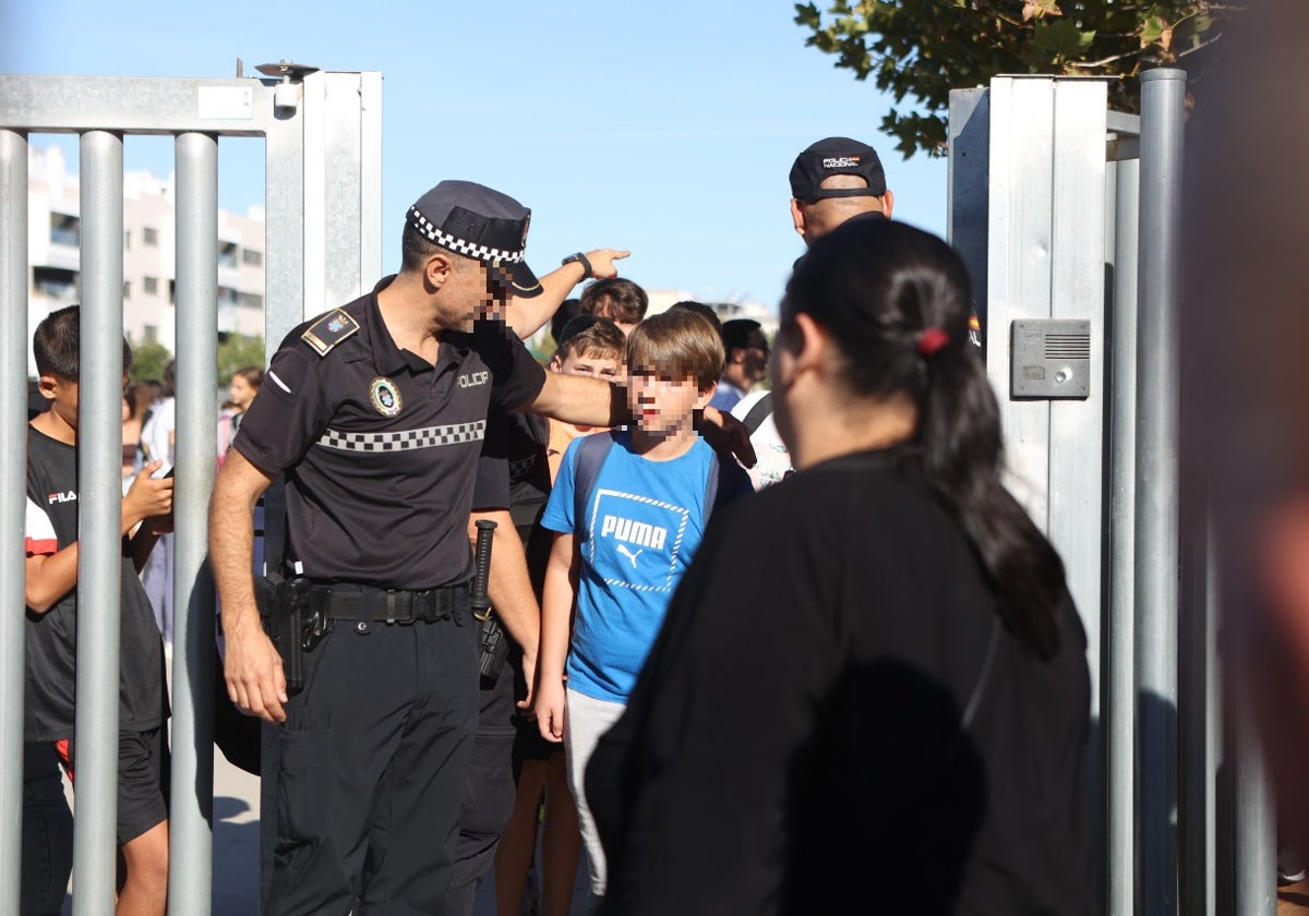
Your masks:
[{"label": "dark police cap with white checkered band and shiny visor", "polygon": [[541,281],[522,259],[531,211],[509,195],[446,181],[419,198],[404,219],[429,242],[486,262],[491,279],[514,296],[541,294]]}]

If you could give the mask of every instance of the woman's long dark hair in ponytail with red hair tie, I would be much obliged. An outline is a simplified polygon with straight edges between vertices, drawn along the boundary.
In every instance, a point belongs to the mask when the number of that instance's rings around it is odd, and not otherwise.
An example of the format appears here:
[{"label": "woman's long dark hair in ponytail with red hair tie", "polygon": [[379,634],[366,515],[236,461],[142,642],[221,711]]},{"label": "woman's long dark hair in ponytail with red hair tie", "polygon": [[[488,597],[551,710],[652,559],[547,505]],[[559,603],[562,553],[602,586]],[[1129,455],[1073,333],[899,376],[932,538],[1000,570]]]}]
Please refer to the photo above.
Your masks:
[{"label": "woman's long dark hair in ponytail with red hair tie", "polygon": [[860,217],[796,264],[783,327],[804,311],[833,332],[856,396],[907,394],[925,482],[963,529],[1000,597],[1000,616],[1030,652],[1059,648],[1059,555],[1000,479],[1000,411],[967,339],[967,271],[940,238]]}]

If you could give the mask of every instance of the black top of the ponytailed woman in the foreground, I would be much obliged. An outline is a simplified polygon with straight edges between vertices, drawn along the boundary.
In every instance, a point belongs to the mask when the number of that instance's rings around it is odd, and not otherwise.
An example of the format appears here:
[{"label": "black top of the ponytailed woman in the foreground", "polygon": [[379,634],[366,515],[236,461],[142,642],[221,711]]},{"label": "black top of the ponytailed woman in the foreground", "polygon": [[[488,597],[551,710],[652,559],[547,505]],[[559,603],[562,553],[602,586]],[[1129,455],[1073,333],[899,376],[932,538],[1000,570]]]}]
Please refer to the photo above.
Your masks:
[{"label": "black top of the ponytailed woman in the foreground", "polygon": [[1096,911],[1081,624],[1026,654],[912,466],[838,458],[709,529],[588,768],[605,913]]}]

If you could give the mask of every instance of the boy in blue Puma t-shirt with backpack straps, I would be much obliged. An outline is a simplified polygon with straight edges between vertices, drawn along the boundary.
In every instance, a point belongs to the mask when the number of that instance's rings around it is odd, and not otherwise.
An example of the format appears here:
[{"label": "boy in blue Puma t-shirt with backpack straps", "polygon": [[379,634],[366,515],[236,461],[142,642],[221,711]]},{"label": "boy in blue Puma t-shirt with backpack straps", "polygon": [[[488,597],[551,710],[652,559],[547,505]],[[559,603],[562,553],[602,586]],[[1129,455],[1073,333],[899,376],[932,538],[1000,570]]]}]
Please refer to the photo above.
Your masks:
[{"label": "boy in blue Puma t-shirt with backpack straps", "polygon": [[[605,892],[605,860],[586,807],[586,762],[622,714],[704,535],[712,509],[707,487],[719,466],[694,424],[713,395],[723,359],[717,332],[692,311],[639,323],[627,339],[632,425],[597,433],[613,437],[613,445],[581,502],[577,461],[586,438],[568,446],[541,520],[556,534],[542,595],[534,708],[541,734],[564,742],[597,898]],[[750,492],[750,483],[730,462],[717,488],[730,497]]]}]

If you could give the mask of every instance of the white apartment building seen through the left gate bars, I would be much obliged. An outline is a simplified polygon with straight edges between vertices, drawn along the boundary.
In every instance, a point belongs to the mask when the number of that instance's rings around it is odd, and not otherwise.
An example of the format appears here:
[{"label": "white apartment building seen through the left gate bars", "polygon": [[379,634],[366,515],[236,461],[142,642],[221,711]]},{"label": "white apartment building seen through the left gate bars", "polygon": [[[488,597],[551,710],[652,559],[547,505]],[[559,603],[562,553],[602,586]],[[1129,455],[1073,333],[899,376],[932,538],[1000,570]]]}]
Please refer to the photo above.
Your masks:
[{"label": "white apartment building seen through the left gate bars", "polygon": [[[123,331],[132,344],[177,352],[174,186],[145,171],[123,175]],[[27,153],[27,322],[79,301],[79,179],[59,147]],[[263,208],[219,211],[219,334],[263,334]],[[31,356],[29,353],[29,364]],[[35,374],[35,366],[29,365]]]}]

